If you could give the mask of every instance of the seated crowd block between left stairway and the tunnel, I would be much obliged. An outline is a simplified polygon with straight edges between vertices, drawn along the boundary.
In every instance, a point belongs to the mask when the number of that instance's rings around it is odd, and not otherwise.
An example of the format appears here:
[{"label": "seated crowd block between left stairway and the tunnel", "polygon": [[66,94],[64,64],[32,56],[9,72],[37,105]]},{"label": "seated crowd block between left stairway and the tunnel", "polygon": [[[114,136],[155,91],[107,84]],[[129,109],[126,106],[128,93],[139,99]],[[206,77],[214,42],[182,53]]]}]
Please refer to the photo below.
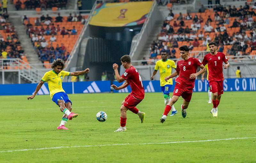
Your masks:
[{"label": "seated crowd block between left stairway and the tunnel", "polygon": [[[58,16],[55,18],[50,17],[48,14],[46,17],[42,15],[40,18],[36,18],[34,22],[34,26],[30,23],[29,19],[24,16],[23,21],[27,20],[26,29],[27,34],[31,38],[31,42],[37,51],[38,57],[42,62],[49,61],[52,63],[54,59],[61,58],[66,61],[69,57],[69,52],[67,51],[67,47],[64,44],[57,44],[56,47],[52,46],[53,42],[57,41],[56,35],[77,35],[76,27],[73,26],[71,29],[67,29],[66,27],[60,27],[58,22],[77,22],[82,21],[84,18],[79,13],[78,16],[70,13],[67,19],[64,19],[58,13]],[[85,21],[85,20],[84,20]],[[49,42],[45,39],[46,36],[50,36]]]}]

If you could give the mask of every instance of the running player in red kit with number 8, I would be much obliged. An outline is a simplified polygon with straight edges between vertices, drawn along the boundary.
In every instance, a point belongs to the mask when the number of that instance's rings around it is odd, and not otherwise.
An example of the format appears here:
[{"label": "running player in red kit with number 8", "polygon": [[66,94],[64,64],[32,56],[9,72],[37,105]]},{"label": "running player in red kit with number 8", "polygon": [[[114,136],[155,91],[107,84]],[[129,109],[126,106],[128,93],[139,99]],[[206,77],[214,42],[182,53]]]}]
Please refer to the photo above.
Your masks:
[{"label": "running player in red kit with number 8", "polygon": [[[160,119],[161,123],[164,123],[166,116],[172,108],[172,105],[179,99],[180,96],[184,99],[183,104],[181,105],[181,114],[183,118],[186,117],[186,109],[188,108],[189,102],[192,97],[196,76],[203,74],[206,71],[206,68],[203,66],[199,59],[191,58],[188,56],[189,48],[187,45],[181,46],[179,50],[181,58],[183,60],[178,61],[176,71],[165,78],[165,80],[167,81],[170,78],[179,75],[179,77],[175,80],[176,83],[173,90],[172,99],[165,106],[164,114]],[[196,73],[198,66],[201,68],[201,70]]]}]

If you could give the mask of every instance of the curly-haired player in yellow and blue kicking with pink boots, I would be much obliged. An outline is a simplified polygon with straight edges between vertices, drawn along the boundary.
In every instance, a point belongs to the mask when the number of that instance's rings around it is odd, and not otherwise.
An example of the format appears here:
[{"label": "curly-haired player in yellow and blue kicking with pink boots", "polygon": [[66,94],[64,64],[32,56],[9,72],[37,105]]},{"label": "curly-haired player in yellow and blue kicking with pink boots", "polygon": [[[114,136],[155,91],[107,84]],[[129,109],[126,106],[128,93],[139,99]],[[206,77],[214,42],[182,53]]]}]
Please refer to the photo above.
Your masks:
[{"label": "curly-haired player in yellow and blue kicking with pink boots", "polygon": [[60,122],[60,126],[57,129],[68,130],[65,127],[65,124],[68,120],[72,120],[72,118],[76,118],[78,114],[71,113],[71,105],[72,102],[68,98],[68,95],[65,93],[62,88],[62,81],[65,76],[78,76],[82,74],[89,73],[89,68],[86,68],[84,71],[76,71],[76,72],[67,72],[63,71],[66,64],[62,59],[56,59],[52,62],[52,70],[48,71],[44,74],[42,80],[36,86],[36,90],[32,96],[27,97],[29,99],[33,99],[37,92],[40,90],[44,82],[48,83],[48,87],[50,90],[50,96],[52,101],[55,102],[60,107],[60,111],[63,112],[62,120]]}]

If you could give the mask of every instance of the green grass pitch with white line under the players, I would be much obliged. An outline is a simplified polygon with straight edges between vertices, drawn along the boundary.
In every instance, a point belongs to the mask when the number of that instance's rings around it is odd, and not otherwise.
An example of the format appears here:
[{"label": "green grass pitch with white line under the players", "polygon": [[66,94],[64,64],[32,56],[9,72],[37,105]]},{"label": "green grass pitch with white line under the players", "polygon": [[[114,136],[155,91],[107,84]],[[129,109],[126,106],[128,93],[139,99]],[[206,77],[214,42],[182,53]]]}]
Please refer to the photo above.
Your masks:
[{"label": "green grass pitch with white line under the players", "polygon": [[[0,162],[256,162],[256,92],[225,92],[218,118],[210,113],[207,92],[193,93],[187,117],[181,116],[180,98],[175,104],[178,114],[163,124],[162,94],[146,93],[138,105],[146,113],[145,123],[128,111],[127,131],[115,133],[126,95],[69,95],[79,116],[68,121],[68,131],[56,129],[62,113],[49,95],[29,101],[27,96],[1,96]],[[106,122],[96,120],[99,111],[108,114]],[[243,137],[250,138],[154,144]],[[126,143],[130,145],[111,145]],[[6,152],[101,144],[110,145]]]}]

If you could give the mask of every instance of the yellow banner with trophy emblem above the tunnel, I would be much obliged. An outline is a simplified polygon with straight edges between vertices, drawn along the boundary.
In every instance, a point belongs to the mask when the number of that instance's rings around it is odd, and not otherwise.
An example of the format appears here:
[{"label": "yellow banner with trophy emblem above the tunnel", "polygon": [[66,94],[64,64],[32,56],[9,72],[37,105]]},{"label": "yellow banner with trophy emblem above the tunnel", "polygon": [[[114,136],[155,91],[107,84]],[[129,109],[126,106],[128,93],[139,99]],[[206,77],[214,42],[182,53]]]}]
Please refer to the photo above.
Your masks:
[{"label": "yellow banner with trophy emblem above the tunnel", "polygon": [[101,4],[89,24],[102,27],[139,25],[146,20],[152,4],[153,1]]}]

